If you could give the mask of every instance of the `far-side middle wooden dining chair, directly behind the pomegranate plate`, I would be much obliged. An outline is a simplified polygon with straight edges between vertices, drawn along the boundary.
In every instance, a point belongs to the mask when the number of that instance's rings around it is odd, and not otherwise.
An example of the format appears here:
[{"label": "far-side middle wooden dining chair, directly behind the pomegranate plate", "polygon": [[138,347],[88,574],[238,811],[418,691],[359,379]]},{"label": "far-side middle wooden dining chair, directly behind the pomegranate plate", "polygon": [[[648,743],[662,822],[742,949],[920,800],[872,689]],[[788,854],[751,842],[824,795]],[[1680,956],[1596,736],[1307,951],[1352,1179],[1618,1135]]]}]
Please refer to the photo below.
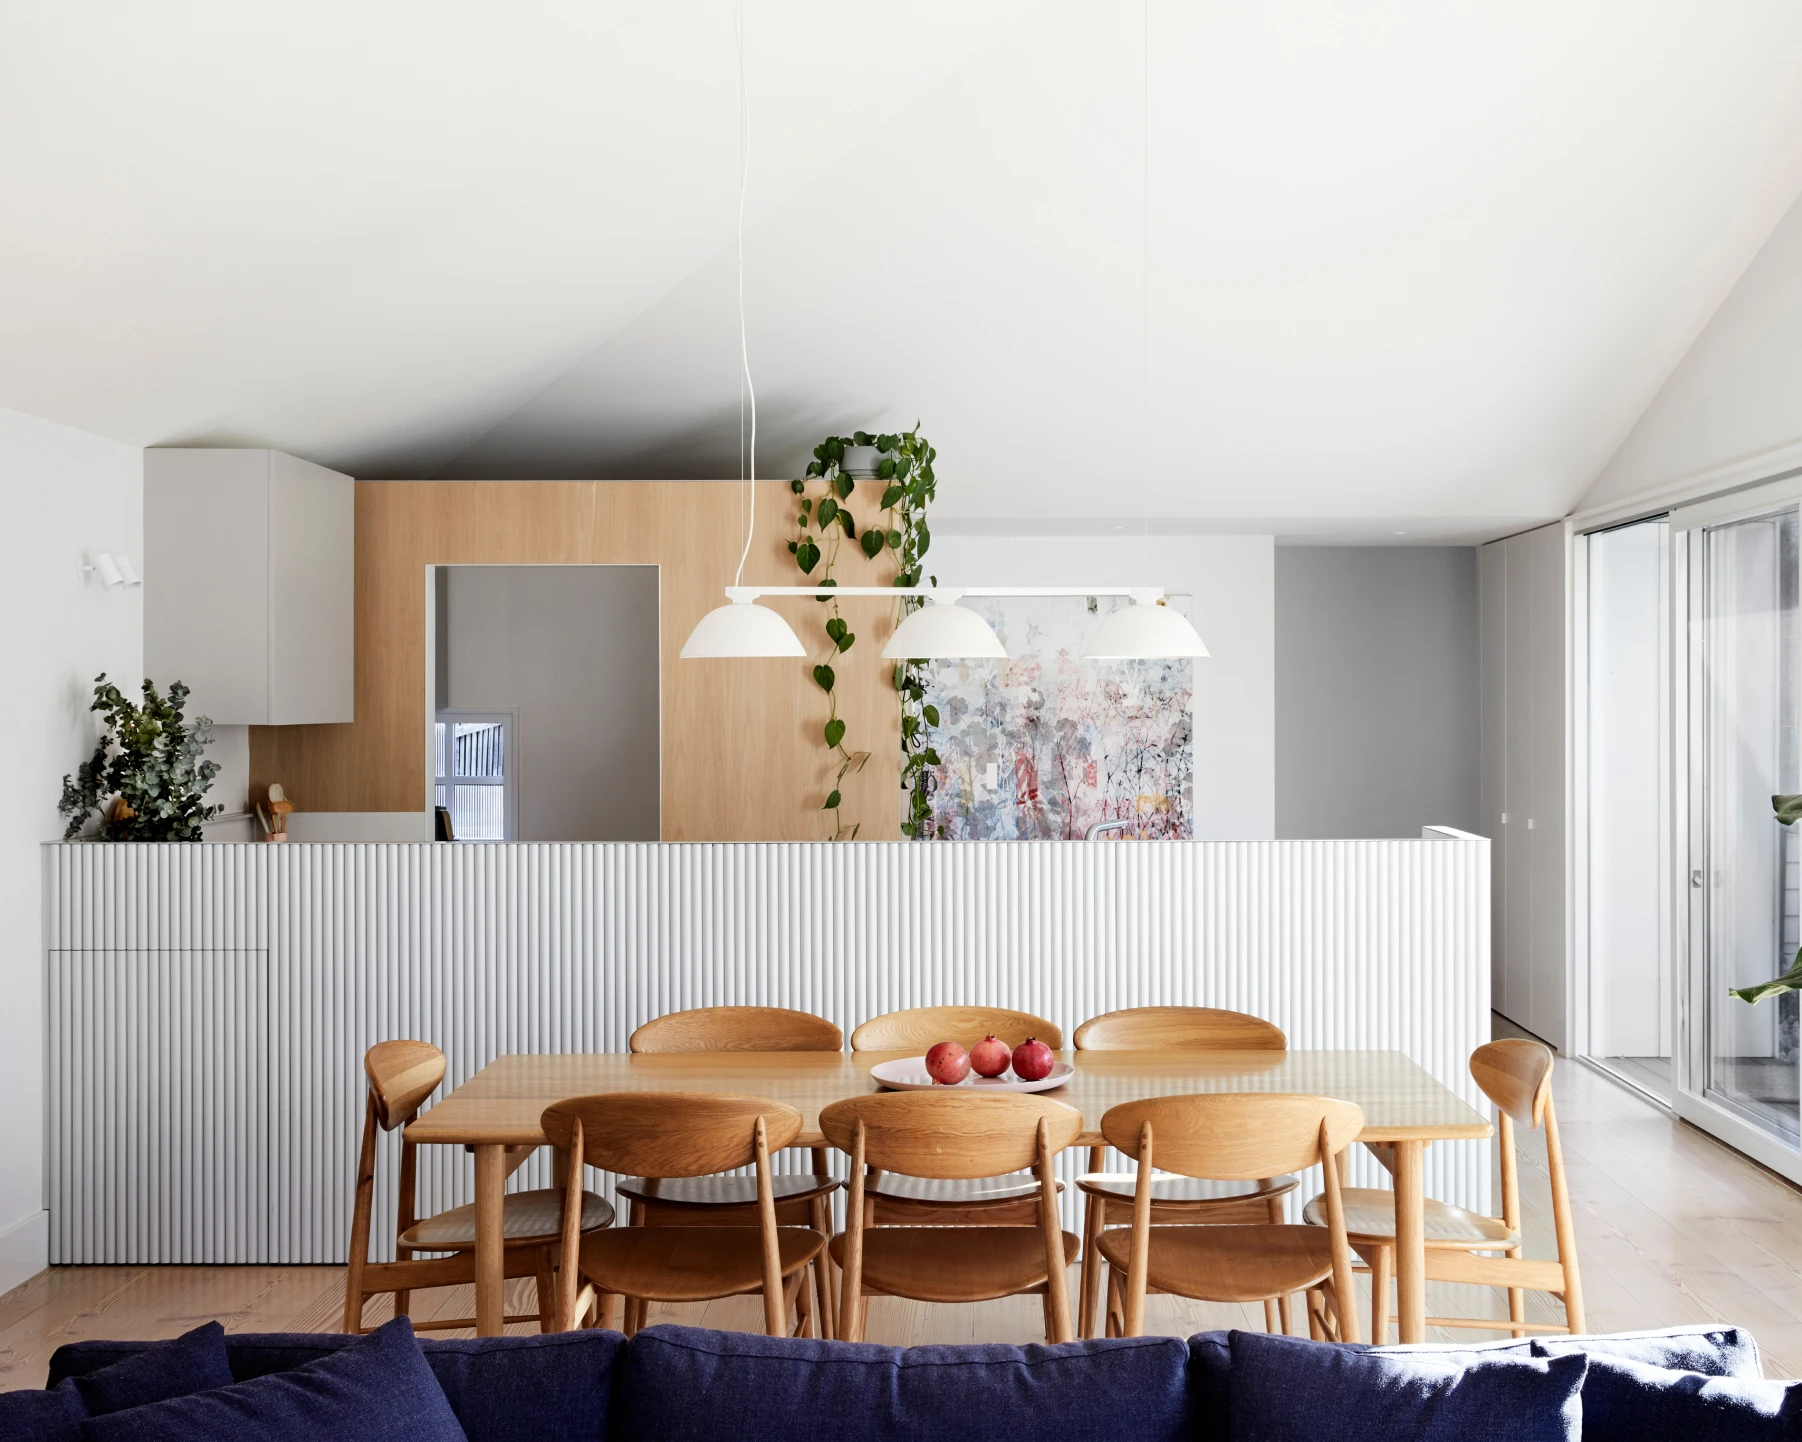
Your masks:
[{"label": "far-side middle wooden dining chair, directly behind the pomegranate plate", "polygon": [[[984,1036],[1016,1047],[1036,1036],[1063,1049],[1056,1022],[1004,1006],[915,1006],[872,1017],[851,1033],[852,1051],[919,1051],[957,1042],[966,1051]],[[865,1177],[865,1218],[870,1226],[1033,1226],[1038,1217],[1038,1179],[1031,1173],[984,1177],[971,1182],[924,1181],[872,1170]],[[1058,1182],[1063,1190],[1063,1182]]]}]

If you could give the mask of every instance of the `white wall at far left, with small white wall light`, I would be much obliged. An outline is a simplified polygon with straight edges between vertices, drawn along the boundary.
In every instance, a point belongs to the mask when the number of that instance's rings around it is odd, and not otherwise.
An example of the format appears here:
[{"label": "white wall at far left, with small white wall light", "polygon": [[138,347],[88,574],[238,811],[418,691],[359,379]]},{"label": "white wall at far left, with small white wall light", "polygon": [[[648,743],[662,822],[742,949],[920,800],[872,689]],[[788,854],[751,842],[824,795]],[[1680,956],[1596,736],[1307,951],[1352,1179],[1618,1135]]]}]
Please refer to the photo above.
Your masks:
[{"label": "white wall at far left, with small white wall light", "polygon": [[79,575],[94,552],[142,559],[142,452],[0,409],[0,1292],[45,1265],[43,1211],[43,863],[61,836],[63,773],[97,735],[94,678],[142,680],[142,591]]}]

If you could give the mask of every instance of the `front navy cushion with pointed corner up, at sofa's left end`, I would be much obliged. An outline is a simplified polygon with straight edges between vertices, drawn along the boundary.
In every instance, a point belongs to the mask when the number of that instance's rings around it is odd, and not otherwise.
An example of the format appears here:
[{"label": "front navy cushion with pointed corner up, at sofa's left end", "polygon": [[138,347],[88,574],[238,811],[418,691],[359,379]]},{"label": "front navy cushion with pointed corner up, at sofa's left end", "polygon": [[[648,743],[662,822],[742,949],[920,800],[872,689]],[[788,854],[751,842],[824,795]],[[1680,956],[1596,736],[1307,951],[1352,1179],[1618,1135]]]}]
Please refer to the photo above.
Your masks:
[{"label": "front navy cushion with pointed corner up, at sofa's left end", "polygon": [[413,1327],[395,1318],[330,1357],[81,1424],[85,1442],[465,1442]]}]

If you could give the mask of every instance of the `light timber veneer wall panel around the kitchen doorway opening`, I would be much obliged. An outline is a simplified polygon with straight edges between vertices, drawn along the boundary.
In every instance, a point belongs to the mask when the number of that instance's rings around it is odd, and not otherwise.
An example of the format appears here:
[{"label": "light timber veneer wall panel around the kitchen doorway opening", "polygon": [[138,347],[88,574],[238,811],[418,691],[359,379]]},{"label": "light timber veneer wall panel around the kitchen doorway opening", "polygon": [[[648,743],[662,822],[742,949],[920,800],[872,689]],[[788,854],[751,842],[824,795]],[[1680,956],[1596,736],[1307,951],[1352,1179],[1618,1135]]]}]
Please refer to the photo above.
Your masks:
[{"label": "light timber veneer wall panel around the kitchen doorway opening", "polygon": [[[856,514],[876,514],[865,481]],[[795,496],[757,483],[746,580],[802,580],[787,553]],[[825,696],[809,669],[829,658],[824,607],[769,602],[809,649],[805,662],[681,662],[694,624],[724,602],[742,546],[737,481],[359,481],[357,719],[252,726],[250,789],[272,780],[306,811],[418,811],[425,804],[425,568],[476,564],[656,564],[661,611],[663,840],[825,840],[820,802],[836,766],[820,737]],[[816,570],[818,575],[818,570]],[[840,557],[843,584],[887,584],[890,553]],[[899,836],[899,710],[881,645],[894,602],[847,598],[858,636],[838,672],[847,744],[867,750],[845,779],[843,811],[863,840]]]}]

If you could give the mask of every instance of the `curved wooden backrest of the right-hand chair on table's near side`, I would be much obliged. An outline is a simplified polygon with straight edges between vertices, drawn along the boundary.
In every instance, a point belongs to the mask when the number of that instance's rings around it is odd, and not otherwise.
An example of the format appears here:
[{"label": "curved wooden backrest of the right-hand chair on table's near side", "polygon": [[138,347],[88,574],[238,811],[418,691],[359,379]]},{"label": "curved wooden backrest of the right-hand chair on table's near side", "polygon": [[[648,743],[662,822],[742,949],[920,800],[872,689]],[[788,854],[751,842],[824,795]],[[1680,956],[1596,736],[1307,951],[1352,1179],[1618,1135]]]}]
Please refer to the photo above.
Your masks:
[{"label": "curved wooden backrest of the right-hand chair on table's near side", "polygon": [[1364,1130],[1352,1101],[1299,1092],[1202,1092],[1123,1101],[1101,1118],[1101,1136],[1128,1157],[1151,1123],[1151,1155],[1164,1172],[1216,1181],[1258,1181],[1339,1155]]}]

